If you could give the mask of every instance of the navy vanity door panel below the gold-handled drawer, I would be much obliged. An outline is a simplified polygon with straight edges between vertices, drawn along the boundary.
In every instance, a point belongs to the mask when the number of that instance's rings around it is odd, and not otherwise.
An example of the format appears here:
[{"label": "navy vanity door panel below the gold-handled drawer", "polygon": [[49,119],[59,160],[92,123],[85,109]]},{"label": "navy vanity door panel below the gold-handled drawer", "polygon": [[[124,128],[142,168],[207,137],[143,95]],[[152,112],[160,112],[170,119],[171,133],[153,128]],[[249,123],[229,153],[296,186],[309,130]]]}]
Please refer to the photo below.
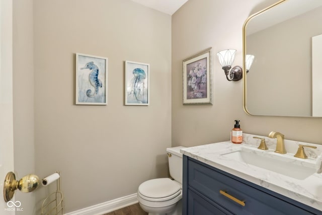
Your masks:
[{"label": "navy vanity door panel below the gold-handled drawer", "polygon": [[188,190],[188,215],[233,215],[220,205],[213,205],[204,197]]}]

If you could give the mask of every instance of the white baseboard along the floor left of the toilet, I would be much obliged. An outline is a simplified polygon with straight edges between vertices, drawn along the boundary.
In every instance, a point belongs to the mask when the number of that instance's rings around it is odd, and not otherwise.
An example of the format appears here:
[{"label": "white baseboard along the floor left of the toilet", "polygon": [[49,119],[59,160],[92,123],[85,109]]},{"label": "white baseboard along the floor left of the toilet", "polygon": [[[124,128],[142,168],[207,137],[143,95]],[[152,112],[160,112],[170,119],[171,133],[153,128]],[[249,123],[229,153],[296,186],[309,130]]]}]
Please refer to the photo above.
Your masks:
[{"label": "white baseboard along the floor left of the toilet", "polygon": [[137,203],[136,193],[89,206],[64,215],[101,215]]}]

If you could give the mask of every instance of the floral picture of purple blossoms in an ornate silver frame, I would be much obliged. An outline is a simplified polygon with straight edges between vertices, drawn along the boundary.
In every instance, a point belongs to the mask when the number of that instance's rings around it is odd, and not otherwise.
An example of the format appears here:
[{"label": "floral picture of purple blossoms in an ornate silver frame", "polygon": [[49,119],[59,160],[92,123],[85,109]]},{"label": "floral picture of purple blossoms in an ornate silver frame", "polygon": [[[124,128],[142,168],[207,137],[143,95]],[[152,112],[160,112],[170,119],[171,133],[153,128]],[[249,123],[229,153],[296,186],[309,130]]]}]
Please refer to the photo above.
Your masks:
[{"label": "floral picture of purple blossoms in an ornate silver frame", "polygon": [[212,48],[183,60],[183,104],[212,105]]}]

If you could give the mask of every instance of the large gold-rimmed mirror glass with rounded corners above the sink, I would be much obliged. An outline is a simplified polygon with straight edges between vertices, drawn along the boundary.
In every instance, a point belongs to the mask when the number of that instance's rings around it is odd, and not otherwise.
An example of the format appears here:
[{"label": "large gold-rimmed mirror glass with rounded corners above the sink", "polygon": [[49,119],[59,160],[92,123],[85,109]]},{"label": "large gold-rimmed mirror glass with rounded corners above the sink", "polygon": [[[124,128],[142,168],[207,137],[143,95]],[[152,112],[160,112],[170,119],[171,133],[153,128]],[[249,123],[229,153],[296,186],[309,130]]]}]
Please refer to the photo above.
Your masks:
[{"label": "large gold-rimmed mirror glass with rounded corners above the sink", "polygon": [[322,117],[321,21],[322,0],[282,0],[247,19],[243,55],[255,56],[244,76],[247,113]]}]

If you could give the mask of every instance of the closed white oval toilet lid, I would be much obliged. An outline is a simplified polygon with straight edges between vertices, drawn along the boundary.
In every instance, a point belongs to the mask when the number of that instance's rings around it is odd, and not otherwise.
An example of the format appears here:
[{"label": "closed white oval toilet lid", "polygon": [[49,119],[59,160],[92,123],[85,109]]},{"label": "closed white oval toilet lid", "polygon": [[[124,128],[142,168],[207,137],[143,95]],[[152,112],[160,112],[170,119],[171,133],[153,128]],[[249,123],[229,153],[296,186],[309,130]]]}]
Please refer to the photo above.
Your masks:
[{"label": "closed white oval toilet lid", "polygon": [[[175,196],[181,193],[181,185],[170,178],[156,178],[143,182],[138,191],[148,198],[164,198]],[[174,196],[174,197],[175,197]]]}]

